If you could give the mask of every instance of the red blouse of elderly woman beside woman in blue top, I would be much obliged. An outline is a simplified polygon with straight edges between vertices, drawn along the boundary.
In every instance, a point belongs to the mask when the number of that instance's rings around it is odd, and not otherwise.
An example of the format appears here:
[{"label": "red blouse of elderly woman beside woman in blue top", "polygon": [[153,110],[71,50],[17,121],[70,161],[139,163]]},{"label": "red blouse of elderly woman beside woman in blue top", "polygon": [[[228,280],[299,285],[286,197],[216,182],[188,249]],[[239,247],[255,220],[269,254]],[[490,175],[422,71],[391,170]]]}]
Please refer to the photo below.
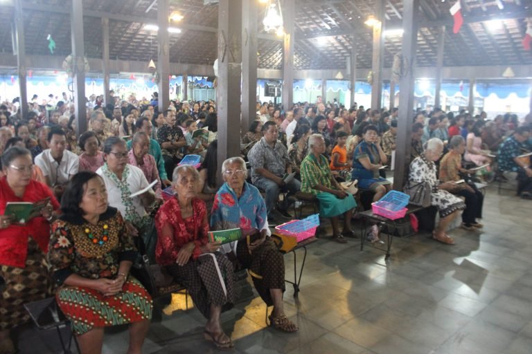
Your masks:
[{"label": "red blouse of elderly woman beside woman in blue top", "polygon": [[194,198],[192,213],[192,216],[183,219],[177,198],[169,199],[159,208],[155,216],[158,235],[155,259],[159,265],[175,264],[179,250],[189,242],[195,244],[192,257],[197,259],[202,254],[200,247],[209,243],[209,223],[204,201]]}]

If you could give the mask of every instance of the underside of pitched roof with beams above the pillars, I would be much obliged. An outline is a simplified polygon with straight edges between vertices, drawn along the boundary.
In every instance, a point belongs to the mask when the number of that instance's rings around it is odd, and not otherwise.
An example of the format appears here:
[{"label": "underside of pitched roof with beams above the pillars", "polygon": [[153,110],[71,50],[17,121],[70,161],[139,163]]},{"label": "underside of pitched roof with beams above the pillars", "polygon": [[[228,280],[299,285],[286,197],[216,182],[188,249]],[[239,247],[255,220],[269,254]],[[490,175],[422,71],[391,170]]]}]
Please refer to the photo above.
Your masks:
[{"label": "underside of pitched roof with beams above the pillars", "polygon": [[[258,0],[257,0],[258,1]],[[375,0],[296,1],[294,66],[303,69],[345,68],[357,55],[357,67],[371,68],[372,31],[364,24],[375,12]],[[205,0],[170,0],[171,11],[184,16],[172,23],[181,29],[170,33],[170,62],[212,65],[217,53],[218,6]],[[532,17],[532,0],[461,0],[464,24],[452,32],[450,6],[454,0],[422,0],[418,31],[417,66],[436,66],[438,27],[445,28],[444,66],[529,65],[532,51],[521,41],[526,17]],[[56,43],[53,55],[71,53],[70,1],[24,0],[26,55],[52,55],[46,37]],[[283,1],[281,1],[283,6]],[[100,17],[109,17],[109,57],[148,62],[157,58],[157,31],[145,24],[157,22],[157,0],[84,0],[85,55],[102,55]],[[259,4],[259,19],[265,6]],[[0,6],[0,17],[12,19],[14,8]],[[400,52],[402,1],[386,0],[384,66]],[[266,34],[258,24],[259,68],[279,69],[282,41]],[[0,50],[12,51],[10,21],[0,21]]]}]

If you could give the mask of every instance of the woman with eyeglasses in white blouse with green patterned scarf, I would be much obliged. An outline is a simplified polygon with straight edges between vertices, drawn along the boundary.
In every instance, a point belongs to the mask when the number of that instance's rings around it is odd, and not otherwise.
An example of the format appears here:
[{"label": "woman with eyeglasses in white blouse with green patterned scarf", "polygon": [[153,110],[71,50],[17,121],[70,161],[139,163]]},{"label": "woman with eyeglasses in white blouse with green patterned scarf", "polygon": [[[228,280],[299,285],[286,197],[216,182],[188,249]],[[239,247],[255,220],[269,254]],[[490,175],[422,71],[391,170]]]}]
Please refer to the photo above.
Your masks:
[{"label": "woman with eyeglasses in white blouse with green patterned scarf", "polygon": [[140,196],[131,197],[132,194],[148,187],[148,180],[139,167],[127,163],[127,147],[125,140],[121,138],[112,136],[105,140],[103,158],[105,163],[96,174],[103,178],[109,205],[121,212],[130,232],[141,234],[145,241],[149,241],[153,223],[146,209],[153,205],[155,194],[149,189]]}]

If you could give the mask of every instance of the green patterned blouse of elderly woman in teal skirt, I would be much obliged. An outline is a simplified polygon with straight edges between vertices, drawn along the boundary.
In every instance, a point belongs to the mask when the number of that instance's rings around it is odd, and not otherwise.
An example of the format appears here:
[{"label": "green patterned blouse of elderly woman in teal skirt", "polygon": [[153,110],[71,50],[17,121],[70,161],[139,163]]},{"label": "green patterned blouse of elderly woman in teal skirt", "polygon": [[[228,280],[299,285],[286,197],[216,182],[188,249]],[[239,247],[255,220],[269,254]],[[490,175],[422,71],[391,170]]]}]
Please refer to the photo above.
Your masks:
[{"label": "green patterned blouse of elderly woman in teal skirt", "polygon": [[301,192],[303,193],[320,194],[321,191],[312,188],[316,185],[323,185],[323,187],[332,189],[329,162],[323,155],[320,155],[319,161],[317,161],[316,157],[309,153],[301,162],[300,174]]}]

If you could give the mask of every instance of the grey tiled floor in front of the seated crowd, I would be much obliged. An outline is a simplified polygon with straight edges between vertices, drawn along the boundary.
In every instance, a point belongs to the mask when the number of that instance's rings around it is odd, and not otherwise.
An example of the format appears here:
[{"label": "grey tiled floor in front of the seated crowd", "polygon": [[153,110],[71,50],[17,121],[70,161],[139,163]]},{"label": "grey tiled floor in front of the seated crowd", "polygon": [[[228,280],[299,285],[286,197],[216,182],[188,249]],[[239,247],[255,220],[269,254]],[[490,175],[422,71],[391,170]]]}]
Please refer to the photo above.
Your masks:
[{"label": "grey tiled floor in front of the seated crowd", "polygon": [[[299,299],[290,285],[285,293],[299,333],[267,328],[265,304],[248,296],[222,315],[233,353],[532,353],[532,202],[488,187],[484,216],[484,232],[453,230],[454,246],[425,234],[394,239],[388,262],[360,252],[359,240],[320,239],[309,246]],[[293,277],[292,255],[285,261]],[[215,353],[202,316],[173,300],[158,302],[145,353]],[[21,352],[53,353],[53,338],[28,330]],[[104,353],[125,353],[127,339],[126,328],[112,328]]]}]

